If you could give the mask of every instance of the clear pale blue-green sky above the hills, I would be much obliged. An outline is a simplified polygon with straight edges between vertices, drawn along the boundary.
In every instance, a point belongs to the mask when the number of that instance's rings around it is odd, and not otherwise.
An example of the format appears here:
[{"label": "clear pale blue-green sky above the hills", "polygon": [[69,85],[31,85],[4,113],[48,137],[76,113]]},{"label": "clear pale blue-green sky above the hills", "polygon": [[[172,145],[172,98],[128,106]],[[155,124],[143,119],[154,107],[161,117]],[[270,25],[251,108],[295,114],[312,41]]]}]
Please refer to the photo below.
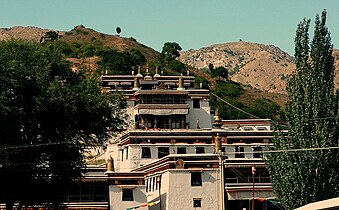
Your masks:
[{"label": "clear pale blue-green sky above the hills", "polygon": [[121,36],[158,51],[168,41],[188,50],[242,39],[293,55],[297,24],[305,17],[313,23],[323,9],[339,48],[339,0],[1,0],[0,27],[69,31],[83,24],[115,34],[120,26]]}]

